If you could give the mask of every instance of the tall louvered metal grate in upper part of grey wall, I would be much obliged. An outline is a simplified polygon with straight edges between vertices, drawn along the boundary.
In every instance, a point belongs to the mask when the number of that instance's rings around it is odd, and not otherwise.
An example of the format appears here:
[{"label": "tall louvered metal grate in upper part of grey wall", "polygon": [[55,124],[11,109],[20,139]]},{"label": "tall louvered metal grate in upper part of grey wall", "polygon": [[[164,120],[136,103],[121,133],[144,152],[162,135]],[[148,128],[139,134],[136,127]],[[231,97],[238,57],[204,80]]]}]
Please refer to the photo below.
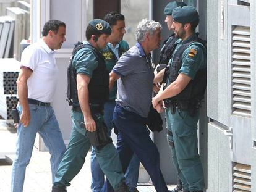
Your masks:
[{"label": "tall louvered metal grate in upper part of grey wall", "polygon": [[232,112],[251,117],[250,27],[232,31]]}]

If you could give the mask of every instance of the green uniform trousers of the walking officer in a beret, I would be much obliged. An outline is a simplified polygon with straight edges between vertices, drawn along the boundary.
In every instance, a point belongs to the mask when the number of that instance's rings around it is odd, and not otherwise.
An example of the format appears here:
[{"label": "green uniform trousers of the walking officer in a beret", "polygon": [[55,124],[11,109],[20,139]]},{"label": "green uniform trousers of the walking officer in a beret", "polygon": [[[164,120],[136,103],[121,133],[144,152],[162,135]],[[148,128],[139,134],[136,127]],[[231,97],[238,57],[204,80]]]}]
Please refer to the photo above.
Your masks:
[{"label": "green uniform trousers of the walking officer in a beret", "polygon": [[[69,182],[79,173],[85,162],[85,156],[91,144],[87,136],[87,130],[80,128],[81,122],[83,122],[83,114],[72,111],[72,133],[67,151],[62,157],[62,161],[55,174],[55,186],[69,186]],[[118,188],[124,182],[124,174],[122,173],[119,155],[113,143],[107,144],[100,150],[95,149],[95,152],[100,167],[111,183],[111,186],[114,189]]]}]

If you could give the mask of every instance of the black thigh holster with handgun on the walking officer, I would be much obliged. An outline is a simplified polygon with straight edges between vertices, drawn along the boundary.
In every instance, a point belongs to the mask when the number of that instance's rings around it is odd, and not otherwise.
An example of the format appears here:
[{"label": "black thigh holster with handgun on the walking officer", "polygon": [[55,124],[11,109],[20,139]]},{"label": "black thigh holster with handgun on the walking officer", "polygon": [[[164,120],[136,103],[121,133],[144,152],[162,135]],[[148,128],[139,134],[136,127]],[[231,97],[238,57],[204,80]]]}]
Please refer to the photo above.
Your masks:
[{"label": "black thigh holster with handgun on the walking officer", "polygon": [[[112,143],[112,139],[108,136],[108,131],[106,129],[106,124],[103,121],[103,116],[101,114],[94,114],[93,119],[96,123],[96,131],[87,131],[88,138],[93,147],[101,149],[106,144]],[[80,123],[81,128],[85,128],[85,123]]]}]

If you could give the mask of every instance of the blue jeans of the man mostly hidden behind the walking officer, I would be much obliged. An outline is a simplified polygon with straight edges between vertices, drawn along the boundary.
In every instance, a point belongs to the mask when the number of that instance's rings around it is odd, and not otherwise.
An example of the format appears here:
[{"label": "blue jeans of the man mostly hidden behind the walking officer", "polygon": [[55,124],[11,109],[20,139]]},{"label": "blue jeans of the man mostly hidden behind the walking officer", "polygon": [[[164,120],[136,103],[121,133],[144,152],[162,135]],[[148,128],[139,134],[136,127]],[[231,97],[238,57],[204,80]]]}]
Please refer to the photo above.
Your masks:
[{"label": "blue jeans of the man mostly hidden behind the walking officer", "polygon": [[[104,105],[104,122],[108,128],[108,136],[111,136],[111,130],[113,128],[112,119],[114,107],[116,106],[115,101],[106,102]],[[137,156],[132,157],[129,168],[125,174],[126,184],[129,186],[130,191],[134,191],[137,186],[139,177],[139,166],[140,161]],[[91,172],[92,172],[92,183],[91,189],[93,192],[100,192],[104,185],[104,173],[100,168],[98,160],[96,159],[95,149],[92,147],[91,154]]]}]

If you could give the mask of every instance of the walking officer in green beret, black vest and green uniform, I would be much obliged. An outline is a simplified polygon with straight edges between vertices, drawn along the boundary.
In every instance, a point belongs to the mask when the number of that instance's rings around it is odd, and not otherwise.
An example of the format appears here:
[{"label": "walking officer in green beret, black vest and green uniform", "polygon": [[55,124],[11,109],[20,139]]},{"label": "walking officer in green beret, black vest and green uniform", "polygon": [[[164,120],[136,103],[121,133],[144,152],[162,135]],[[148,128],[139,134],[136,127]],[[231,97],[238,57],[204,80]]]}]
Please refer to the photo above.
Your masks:
[{"label": "walking officer in green beret, black vest and green uniform", "polygon": [[[87,41],[84,41],[83,47],[72,58],[70,66],[74,73],[70,73],[68,80],[71,82],[70,90],[73,90],[70,93],[74,93],[69,98],[73,106],[73,126],[69,147],[55,175],[54,192],[66,191],[66,186],[70,185],[85,162],[92,142],[89,135],[104,127],[103,106],[109,96],[109,72],[100,50],[105,48],[109,34],[109,23],[101,19],[90,21],[86,30]],[[72,81],[74,75],[75,82]],[[83,122],[85,128],[80,127]],[[129,191],[112,141],[95,146],[95,153],[114,191]]]}]

